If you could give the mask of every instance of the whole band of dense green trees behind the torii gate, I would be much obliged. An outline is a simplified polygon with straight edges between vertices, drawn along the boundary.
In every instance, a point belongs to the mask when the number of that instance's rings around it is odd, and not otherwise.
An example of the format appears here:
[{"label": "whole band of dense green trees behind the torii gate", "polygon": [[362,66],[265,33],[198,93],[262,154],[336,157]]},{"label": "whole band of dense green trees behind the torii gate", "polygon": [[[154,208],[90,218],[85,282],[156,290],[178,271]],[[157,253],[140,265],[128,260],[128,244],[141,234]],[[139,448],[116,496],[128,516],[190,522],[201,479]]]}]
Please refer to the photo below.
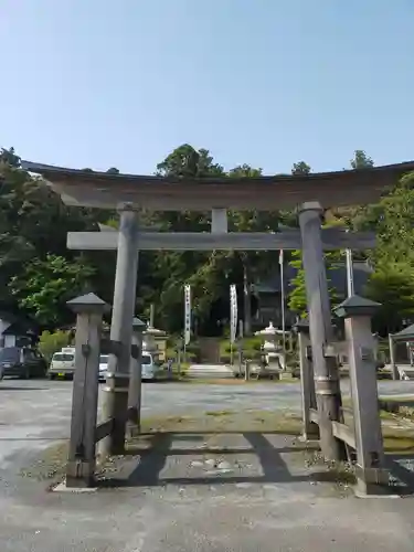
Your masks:
[{"label": "whole band of dense green trees behind the torii gate", "polygon": [[[352,168],[372,167],[361,150],[351,160]],[[294,164],[294,174],[308,174],[305,161]],[[108,172],[116,173],[110,168]],[[157,167],[157,173],[177,177],[227,176],[255,177],[262,169],[241,164],[226,172],[205,149],[190,145],[177,148]],[[117,225],[113,212],[67,208],[39,178],[21,169],[13,149],[0,151],[0,308],[23,312],[41,328],[54,330],[70,325],[73,315],[65,301],[76,294],[94,290],[112,302],[116,254],[108,252],[73,252],[66,248],[68,231],[98,230],[98,223]],[[161,230],[201,232],[210,229],[209,212],[141,213],[145,226]],[[379,243],[368,256],[374,266],[367,294],[384,307],[379,315],[381,331],[395,330],[403,320],[414,317],[414,177],[395,183],[395,189],[376,205],[332,210],[327,224],[352,229],[371,229]],[[277,231],[296,226],[294,212],[229,213],[231,231]],[[327,256],[328,268],[338,263],[340,252]],[[298,252],[285,255],[298,269],[289,306],[298,314],[306,308],[305,286]],[[182,287],[193,288],[198,331],[221,335],[229,319],[229,286],[240,289],[240,314],[255,312],[251,284],[278,270],[277,252],[142,252],[139,258],[137,314],[148,316],[156,306],[157,323],[169,331],[182,329]],[[335,300],[336,298],[332,297]]]}]

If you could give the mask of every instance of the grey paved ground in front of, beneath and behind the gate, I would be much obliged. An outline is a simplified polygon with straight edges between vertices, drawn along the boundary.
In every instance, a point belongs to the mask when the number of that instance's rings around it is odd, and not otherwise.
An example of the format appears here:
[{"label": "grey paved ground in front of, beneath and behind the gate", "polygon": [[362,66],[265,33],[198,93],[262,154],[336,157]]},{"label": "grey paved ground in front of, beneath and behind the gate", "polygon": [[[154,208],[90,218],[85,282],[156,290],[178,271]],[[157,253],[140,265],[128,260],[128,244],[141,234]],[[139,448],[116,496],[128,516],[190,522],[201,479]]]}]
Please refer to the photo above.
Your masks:
[{"label": "grey paved ground in front of, beneath and behind the gate", "polygon": [[[137,467],[131,455],[118,489],[45,492],[20,469],[67,437],[71,391],[70,382],[0,383],[1,552],[413,550],[412,499],[340,497],[309,478],[280,435],[164,435],[157,456]],[[381,382],[380,392],[414,393],[414,382]],[[261,407],[297,411],[298,384],[144,385],[145,416]]]}]

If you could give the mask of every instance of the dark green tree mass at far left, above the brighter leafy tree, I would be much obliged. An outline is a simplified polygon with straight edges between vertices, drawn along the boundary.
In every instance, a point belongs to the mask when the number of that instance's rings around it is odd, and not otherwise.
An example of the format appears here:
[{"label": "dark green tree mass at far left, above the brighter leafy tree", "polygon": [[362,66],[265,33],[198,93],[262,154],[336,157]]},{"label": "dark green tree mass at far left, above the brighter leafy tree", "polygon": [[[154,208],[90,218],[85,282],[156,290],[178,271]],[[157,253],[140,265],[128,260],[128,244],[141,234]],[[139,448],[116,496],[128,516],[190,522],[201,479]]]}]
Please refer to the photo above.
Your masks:
[{"label": "dark green tree mass at far left, above the brighter leafy tree", "polygon": [[[105,221],[108,216],[110,214],[105,211],[67,208],[41,178],[33,178],[21,169],[20,158],[13,148],[2,149],[0,151],[1,309],[10,311],[22,309],[17,295],[10,293],[9,284],[13,277],[23,282],[25,267],[32,262],[45,262],[49,256],[62,257],[68,263],[74,262],[77,253],[66,247],[67,232],[97,230],[97,222]],[[115,255],[107,252],[91,252],[83,253],[82,257],[85,264],[96,265],[94,290],[106,299],[112,299],[113,278],[109,283],[112,270],[108,269],[108,264],[115,267]],[[106,294],[103,293],[105,289]]]}]

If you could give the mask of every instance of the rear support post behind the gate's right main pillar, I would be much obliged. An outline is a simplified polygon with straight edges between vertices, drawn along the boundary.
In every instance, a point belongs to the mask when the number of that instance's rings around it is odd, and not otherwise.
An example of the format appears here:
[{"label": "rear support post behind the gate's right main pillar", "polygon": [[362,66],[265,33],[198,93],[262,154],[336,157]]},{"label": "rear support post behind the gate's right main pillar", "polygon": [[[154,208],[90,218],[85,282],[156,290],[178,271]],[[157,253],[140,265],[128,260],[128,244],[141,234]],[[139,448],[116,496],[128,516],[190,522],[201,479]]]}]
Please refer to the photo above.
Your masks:
[{"label": "rear support post behind the gate's right main pillar", "polygon": [[312,360],[308,358],[308,350],[310,350],[309,321],[301,319],[294,329],[299,341],[302,440],[316,440],[319,439],[319,428],[317,424],[311,422],[309,412],[310,408],[317,408],[314,365]]}]

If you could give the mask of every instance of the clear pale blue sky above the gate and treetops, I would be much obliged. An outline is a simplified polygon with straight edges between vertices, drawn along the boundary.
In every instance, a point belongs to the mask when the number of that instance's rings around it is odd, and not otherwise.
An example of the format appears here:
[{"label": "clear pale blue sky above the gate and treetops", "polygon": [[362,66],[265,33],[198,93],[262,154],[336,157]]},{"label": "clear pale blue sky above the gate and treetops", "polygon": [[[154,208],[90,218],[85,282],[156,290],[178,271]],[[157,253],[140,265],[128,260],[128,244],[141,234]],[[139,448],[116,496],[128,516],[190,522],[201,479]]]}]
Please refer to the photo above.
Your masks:
[{"label": "clear pale blue sky above the gate and treetops", "polygon": [[152,173],[414,159],[414,0],[0,0],[0,146]]}]

